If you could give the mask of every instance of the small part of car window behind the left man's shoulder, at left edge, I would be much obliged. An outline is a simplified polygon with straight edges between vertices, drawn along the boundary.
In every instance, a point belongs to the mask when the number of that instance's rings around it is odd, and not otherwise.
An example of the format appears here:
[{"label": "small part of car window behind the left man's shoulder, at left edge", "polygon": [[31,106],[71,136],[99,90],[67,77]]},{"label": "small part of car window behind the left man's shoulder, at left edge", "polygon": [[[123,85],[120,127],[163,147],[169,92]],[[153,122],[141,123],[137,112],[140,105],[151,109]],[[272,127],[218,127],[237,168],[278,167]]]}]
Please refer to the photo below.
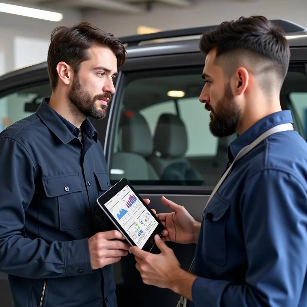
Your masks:
[{"label": "small part of car window behind the left man's shoulder, at left edge", "polygon": [[0,98],[0,132],[12,123],[35,113],[42,99],[50,95],[49,84],[41,84]]}]

